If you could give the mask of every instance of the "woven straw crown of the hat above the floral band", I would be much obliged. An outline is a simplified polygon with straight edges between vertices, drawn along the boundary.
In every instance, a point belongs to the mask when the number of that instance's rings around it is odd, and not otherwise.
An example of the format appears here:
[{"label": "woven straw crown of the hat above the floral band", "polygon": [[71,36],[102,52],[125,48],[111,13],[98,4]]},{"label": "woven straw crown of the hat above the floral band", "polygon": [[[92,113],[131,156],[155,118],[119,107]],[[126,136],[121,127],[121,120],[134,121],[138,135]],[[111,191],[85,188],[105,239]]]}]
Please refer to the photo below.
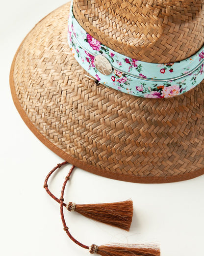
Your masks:
[{"label": "woven straw crown of the hat above the floral band", "polygon": [[112,50],[150,63],[170,63],[204,44],[203,0],[74,0],[83,29]]}]

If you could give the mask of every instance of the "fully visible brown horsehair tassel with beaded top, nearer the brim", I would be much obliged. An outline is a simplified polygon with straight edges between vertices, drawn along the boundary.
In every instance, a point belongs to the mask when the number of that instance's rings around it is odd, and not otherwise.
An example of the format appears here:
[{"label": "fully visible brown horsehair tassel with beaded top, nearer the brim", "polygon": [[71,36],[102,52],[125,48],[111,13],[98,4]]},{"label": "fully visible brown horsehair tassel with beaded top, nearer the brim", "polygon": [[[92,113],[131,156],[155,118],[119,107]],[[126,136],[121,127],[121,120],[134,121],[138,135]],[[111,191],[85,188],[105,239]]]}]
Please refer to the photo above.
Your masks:
[{"label": "fully visible brown horsehair tassel with beaded top, nearer the brim", "polygon": [[98,222],[129,230],[132,222],[132,200],[116,203],[99,204],[67,204],[68,211],[76,211],[81,215]]}]

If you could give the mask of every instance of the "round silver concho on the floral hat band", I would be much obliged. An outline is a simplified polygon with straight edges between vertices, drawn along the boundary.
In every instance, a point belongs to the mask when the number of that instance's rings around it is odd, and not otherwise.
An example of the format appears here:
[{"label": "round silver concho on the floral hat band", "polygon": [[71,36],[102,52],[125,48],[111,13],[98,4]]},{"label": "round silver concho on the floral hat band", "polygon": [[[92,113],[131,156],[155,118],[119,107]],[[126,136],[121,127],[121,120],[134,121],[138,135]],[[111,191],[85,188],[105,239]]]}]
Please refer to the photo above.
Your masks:
[{"label": "round silver concho on the floral hat band", "polygon": [[94,58],[94,64],[103,75],[109,75],[112,73],[112,65],[104,56],[97,55]]}]

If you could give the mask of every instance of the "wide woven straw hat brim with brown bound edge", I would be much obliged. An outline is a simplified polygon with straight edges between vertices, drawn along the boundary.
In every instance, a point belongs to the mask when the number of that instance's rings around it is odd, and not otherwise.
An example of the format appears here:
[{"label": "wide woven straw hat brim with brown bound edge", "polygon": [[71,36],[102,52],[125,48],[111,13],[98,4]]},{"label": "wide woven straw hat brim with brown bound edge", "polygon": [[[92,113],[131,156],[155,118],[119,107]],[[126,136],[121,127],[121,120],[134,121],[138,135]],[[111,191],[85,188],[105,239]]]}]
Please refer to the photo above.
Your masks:
[{"label": "wide woven straw hat brim with brown bound edge", "polygon": [[84,170],[144,183],[204,174],[204,84],[176,97],[130,96],[96,85],[67,42],[70,3],[29,32],[10,86],[32,132]]}]

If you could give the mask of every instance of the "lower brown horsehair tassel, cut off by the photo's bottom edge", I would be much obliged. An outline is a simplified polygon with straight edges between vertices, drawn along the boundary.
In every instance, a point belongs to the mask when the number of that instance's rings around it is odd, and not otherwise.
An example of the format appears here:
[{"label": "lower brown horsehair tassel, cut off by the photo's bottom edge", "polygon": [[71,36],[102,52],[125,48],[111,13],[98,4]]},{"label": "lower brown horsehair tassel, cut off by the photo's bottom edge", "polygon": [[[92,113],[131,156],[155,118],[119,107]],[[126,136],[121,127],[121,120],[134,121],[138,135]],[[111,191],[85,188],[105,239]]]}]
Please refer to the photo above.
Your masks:
[{"label": "lower brown horsehair tassel, cut off by the photo's bottom edge", "polygon": [[109,245],[91,245],[89,247],[90,254],[100,254],[102,256],[160,256],[158,247],[144,247],[142,246],[109,246]]}]

